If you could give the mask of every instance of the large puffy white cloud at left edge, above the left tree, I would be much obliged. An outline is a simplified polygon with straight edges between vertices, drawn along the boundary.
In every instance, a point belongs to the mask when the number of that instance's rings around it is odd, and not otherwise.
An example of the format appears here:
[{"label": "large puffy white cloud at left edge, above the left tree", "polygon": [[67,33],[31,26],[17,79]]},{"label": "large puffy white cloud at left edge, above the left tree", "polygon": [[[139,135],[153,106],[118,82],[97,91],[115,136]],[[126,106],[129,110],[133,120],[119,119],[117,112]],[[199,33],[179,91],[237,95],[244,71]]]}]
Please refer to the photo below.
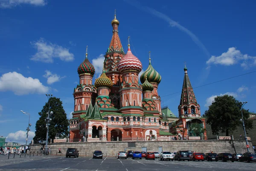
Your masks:
[{"label": "large puffy white cloud at left edge, above the left tree", "polygon": [[49,87],[44,86],[39,79],[24,77],[17,72],[8,72],[0,77],[0,91],[12,91],[15,95],[47,93]]}]

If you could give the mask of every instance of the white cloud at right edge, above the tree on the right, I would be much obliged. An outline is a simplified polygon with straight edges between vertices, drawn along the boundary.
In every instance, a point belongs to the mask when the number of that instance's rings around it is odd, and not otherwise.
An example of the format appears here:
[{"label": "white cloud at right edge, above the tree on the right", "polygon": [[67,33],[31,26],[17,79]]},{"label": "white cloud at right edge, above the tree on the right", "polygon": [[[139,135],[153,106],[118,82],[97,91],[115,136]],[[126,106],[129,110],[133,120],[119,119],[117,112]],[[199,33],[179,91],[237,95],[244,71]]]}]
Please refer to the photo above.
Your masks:
[{"label": "white cloud at right edge, above the tree on the right", "polygon": [[237,50],[235,47],[230,47],[227,52],[222,53],[220,56],[212,56],[206,63],[230,66],[238,64],[239,62],[241,62],[241,67],[252,67],[256,65],[256,56],[242,54],[240,50]]}]

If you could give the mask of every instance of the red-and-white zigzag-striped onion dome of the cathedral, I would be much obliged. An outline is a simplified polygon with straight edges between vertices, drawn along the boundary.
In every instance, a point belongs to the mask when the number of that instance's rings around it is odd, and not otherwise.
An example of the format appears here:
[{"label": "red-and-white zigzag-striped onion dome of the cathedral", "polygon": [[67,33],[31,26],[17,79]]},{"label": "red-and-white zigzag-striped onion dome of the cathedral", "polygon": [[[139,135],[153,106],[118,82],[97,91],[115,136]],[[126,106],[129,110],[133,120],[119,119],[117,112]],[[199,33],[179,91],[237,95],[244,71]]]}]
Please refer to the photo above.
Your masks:
[{"label": "red-and-white zigzag-striped onion dome of the cathedral", "polygon": [[140,60],[131,53],[131,49],[128,48],[126,55],[119,61],[118,70],[123,73],[125,70],[136,70],[140,73],[142,70],[142,64]]}]

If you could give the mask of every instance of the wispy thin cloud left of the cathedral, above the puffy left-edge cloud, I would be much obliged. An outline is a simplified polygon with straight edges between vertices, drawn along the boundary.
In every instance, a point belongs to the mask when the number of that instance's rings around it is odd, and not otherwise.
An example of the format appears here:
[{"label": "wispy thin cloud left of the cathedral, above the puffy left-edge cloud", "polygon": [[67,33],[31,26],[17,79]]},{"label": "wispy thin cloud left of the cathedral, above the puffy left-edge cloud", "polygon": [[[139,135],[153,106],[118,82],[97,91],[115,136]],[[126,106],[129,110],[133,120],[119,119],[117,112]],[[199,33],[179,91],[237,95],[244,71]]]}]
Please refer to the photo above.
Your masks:
[{"label": "wispy thin cloud left of the cathedral, above the puffy left-edge cloud", "polygon": [[30,42],[38,52],[30,58],[33,61],[53,63],[53,58],[60,58],[61,61],[73,61],[74,54],[57,44],[52,44],[40,38],[38,41]]}]

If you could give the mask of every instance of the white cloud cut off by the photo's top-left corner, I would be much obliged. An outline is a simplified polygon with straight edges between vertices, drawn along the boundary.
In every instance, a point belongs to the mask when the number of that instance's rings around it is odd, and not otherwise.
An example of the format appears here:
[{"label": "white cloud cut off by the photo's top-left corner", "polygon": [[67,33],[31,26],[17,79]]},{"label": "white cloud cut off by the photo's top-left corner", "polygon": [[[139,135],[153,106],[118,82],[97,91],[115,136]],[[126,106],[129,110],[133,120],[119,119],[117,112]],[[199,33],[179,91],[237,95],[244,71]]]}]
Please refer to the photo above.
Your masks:
[{"label": "white cloud cut off by the photo's top-left corner", "polygon": [[1,0],[1,8],[12,8],[21,4],[30,4],[34,6],[44,6],[47,4],[46,0]]}]

